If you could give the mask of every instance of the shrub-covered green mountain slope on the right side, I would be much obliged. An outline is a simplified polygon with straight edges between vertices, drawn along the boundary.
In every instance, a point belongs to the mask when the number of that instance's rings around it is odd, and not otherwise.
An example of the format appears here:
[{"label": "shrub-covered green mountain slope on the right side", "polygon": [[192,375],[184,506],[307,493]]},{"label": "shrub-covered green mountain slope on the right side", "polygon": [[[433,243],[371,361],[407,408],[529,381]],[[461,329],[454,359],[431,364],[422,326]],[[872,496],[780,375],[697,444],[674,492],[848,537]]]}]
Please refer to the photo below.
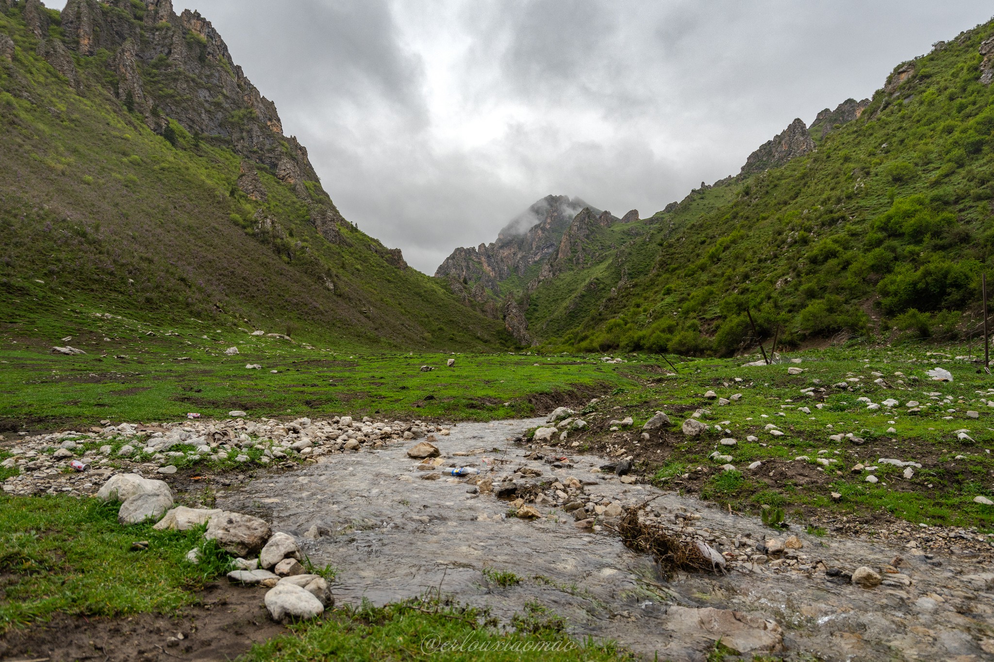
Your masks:
[{"label": "shrub-covered green mountain slope on the right side", "polygon": [[794,119],[738,175],[649,218],[586,216],[521,275],[482,278],[482,247],[436,275],[513,301],[550,351],[975,333],[994,248],[992,80],[987,23],[896,66],[870,99]]}]

